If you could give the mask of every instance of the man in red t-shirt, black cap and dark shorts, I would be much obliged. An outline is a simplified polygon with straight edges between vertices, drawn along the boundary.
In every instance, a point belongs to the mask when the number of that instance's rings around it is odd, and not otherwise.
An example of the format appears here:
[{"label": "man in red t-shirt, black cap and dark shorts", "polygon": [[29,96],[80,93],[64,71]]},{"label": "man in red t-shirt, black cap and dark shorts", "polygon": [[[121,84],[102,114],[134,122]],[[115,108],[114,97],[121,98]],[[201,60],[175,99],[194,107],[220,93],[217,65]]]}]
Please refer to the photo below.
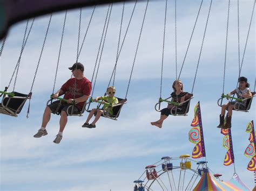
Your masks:
[{"label": "man in red t-shirt, black cap and dark shorts", "polygon": [[[91,94],[91,82],[84,77],[84,66],[82,63],[74,63],[72,67],[69,67],[69,69],[72,71],[74,77],[71,77],[71,79],[66,81],[66,83],[64,83],[62,87],[52,96],[53,98],[57,98],[58,96],[64,94],[64,99],[68,100],[68,103],[58,100],[46,106],[43,115],[42,127],[38,130],[36,135],[34,135],[35,138],[48,135],[45,128],[50,121],[51,113],[55,114],[58,112],[60,114],[59,132],[55,140],[53,140],[53,143],[58,144],[60,140],[62,140],[62,133],[65,129],[66,123],[68,122],[68,114],[81,111]],[[72,111],[72,107],[70,107],[70,105],[72,105],[72,102],[74,101],[76,102],[76,105],[73,107]]]}]

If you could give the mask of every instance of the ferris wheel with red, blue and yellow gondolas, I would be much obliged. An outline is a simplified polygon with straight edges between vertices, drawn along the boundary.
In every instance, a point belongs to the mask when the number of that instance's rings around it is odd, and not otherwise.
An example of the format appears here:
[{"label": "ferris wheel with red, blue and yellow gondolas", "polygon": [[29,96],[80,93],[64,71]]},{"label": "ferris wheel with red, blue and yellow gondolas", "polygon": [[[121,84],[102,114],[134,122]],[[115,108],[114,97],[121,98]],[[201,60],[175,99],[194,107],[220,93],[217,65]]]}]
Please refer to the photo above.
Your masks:
[{"label": "ferris wheel with red, blue and yellow gondolas", "polygon": [[196,161],[189,154],[179,157],[162,157],[145,167],[135,181],[134,191],[192,190],[207,172],[207,161]]}]

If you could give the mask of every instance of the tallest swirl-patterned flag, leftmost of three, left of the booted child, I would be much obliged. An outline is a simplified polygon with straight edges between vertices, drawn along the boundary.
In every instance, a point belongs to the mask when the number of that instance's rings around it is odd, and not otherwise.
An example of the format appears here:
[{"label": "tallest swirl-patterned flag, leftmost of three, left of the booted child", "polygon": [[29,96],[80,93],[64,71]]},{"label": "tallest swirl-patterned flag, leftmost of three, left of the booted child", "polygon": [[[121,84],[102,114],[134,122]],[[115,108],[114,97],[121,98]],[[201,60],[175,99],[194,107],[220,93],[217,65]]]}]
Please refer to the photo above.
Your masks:
[{"label": "tallest swirl-patterned flag, leftmost of three, left of the booted child", "polygon": [[191,143],[196,144],[192,151],[192,158],[205,157],[204,133],[199,102],[194,107],[194,118],[191,126],[192,129],[188,132],[188,139]]}]

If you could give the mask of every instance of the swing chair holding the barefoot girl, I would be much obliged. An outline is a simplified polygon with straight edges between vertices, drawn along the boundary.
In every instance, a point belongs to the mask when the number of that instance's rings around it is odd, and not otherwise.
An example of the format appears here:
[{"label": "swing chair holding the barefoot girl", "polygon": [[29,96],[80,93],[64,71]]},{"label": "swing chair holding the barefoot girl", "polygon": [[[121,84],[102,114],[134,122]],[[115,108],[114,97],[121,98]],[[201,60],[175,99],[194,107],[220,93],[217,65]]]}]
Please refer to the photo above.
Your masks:
[{"label": "swing chair holding the barefoot girl", "polygon": [[[188,111],[190,110],[190,101],[193,98],[193,94],[188,93],[188,95],[185,97],[185,101],[178,103],[178,102],[172,102],[169,101],[169,99],[172,98],[172,96],[166,98],[165,100],[163,100],[162,98],[159,98],[159,102],[154,106],[154,109],[158,112],[161,112],[160,106],[161,106],[161,102],[167,102],[167,103],[171,103],[174,104],[175,106],[171,109],[171,115],[172,116],[187,116]],[[181,105],[185,105],[186,110],[185,112],[180,112],[179,111],[179,107]]]}]

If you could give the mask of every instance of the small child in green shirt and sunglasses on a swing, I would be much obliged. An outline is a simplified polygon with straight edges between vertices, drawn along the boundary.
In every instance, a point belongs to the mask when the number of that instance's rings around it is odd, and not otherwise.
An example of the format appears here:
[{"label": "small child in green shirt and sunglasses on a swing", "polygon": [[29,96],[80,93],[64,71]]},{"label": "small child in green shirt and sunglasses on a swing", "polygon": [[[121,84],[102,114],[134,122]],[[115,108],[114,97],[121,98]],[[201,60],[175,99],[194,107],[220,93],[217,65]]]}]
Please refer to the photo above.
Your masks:
[{"label": "small child in green shirt and sunglasses on a swing", "polygon": [[[107,95],[108,96],[101,96],[101,97],[96,97],[94,100],[95,102],[102,100],[103,108],[102,109],[92,109],[90,111],[90,114],[88,115],[86,122],[82,125],[83,128],[96,128],[96,122],[99,120],[100,116],[103,114],[103,112],[107,112],[108,115],[113,115],[113,110],[112,107],[109,107],[109,104],[116,105],[118,104],[118,99],[114,97],[114,94],[116,94],[116,88],[113,86],[110,86],[107,88]],[[92,116],[95,114],[96,116],[94,121],[89,124],[90,119]]]}]

